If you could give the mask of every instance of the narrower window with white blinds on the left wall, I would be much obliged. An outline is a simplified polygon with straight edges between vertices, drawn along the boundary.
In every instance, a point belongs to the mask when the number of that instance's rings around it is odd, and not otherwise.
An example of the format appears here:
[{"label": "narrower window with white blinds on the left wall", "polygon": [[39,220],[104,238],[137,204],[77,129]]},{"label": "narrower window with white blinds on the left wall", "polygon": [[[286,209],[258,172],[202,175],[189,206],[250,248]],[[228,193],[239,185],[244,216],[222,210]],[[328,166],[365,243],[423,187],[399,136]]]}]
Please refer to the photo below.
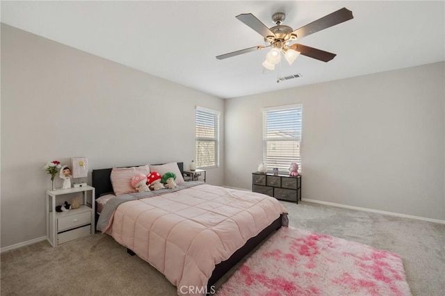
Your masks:
[{"label": "narrower window with white blinds on the left wall", "polygon": [[220,113],[196,107],[196,167],[219,165]]}]

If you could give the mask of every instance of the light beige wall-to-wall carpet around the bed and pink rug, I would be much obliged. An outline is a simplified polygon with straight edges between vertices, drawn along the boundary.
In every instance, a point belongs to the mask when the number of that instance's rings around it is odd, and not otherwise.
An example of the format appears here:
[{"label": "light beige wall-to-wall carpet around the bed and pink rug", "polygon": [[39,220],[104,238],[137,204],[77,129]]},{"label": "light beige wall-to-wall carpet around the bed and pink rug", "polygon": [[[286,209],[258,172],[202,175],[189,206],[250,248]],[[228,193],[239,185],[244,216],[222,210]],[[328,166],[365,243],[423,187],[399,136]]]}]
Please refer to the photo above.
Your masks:
[{"label": "light beige wall-to-wall carpet around the bed and pink rug", "polygon": [[[309,202],[282,204],[293,227],[400,255],[413,295],[444,295],[445,224]],[[0,256],[2,296],[176,295],[160,272],[100,233],[56,248],[38,242]]]}]

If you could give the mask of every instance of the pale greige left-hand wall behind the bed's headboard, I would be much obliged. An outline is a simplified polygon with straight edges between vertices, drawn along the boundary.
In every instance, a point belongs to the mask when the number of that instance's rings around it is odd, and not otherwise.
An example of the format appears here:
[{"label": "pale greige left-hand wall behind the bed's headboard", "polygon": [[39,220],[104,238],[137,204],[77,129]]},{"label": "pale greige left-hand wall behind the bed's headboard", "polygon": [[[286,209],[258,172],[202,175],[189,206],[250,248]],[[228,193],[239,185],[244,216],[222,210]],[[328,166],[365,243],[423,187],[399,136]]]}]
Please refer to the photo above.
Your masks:
[{"label": "pale greige left-hand wall behind the bed's headboard", "polygon": [[1,24],[1,247],[45,236],[48,161],[188,167],[196,105],[221,111],[224,145],[222,99]]}]

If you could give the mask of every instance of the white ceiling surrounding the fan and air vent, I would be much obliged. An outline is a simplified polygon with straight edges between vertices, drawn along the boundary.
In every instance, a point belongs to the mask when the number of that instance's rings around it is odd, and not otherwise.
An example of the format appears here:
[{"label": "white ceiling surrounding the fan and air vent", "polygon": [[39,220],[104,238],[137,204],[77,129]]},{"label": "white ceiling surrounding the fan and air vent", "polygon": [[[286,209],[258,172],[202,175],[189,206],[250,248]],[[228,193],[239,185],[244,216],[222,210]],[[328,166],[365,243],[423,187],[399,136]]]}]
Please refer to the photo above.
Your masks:
[{"label": "white ceiling surrounding the fan and air vent", "polygon": [[[328,63],[300,56],[263,74],[266,51],[215,56],[264,45],[235,18],[266,26],[286,13],[294,30],[346,7],[354,19],[298,43],[330,51]],[[444,1],[1,1],[1,22],[216,97],[293,88],[445,60]]]}]

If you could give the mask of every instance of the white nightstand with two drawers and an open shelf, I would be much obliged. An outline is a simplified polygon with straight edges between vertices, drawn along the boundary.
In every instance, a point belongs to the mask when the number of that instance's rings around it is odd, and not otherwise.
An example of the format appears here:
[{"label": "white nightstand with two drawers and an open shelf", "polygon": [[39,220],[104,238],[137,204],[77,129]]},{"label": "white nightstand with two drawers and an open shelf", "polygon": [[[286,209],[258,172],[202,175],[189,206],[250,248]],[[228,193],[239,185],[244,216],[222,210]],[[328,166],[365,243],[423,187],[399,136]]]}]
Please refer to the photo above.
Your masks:
[{"label": "white nightstand with two drawers and an open shelf", "polygon": [[[71,193],[83,192],[83,204],[80,208],[67,212],[56,212],[56,197]],[[91,192],[88,203],[88,192]],[[51,199],[51,201],[50,201]],[[67,200],[67,202],[71,203]],[[49,205],[51,203],[51,206]],[[53,247],[64,242],[90,236],[95,233],[95,188],[91,186],[47,190],[47,240]]]}]

